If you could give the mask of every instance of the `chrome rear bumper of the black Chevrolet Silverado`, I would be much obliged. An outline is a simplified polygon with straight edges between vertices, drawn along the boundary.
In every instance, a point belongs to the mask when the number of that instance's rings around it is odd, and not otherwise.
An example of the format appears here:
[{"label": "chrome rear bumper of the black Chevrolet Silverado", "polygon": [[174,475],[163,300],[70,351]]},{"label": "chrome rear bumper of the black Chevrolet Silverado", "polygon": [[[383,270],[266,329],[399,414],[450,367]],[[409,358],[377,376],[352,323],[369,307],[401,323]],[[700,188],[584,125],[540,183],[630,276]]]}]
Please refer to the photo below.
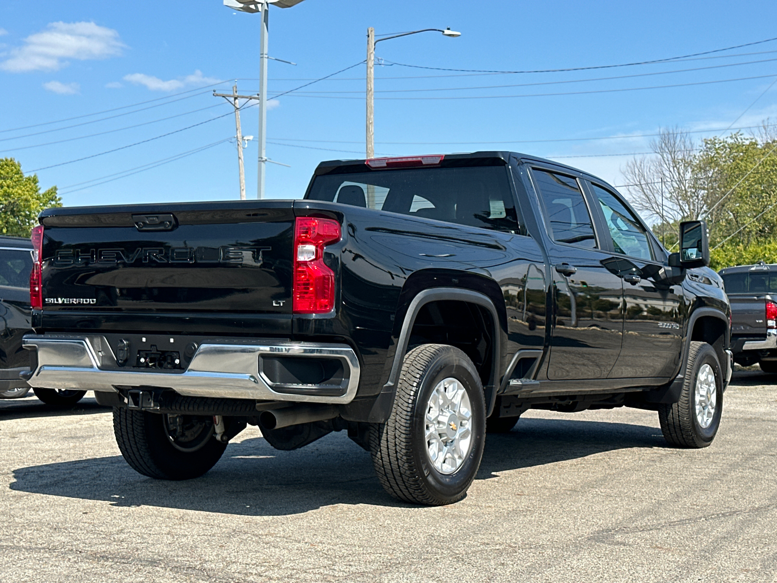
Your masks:
[{"label": "chrome rear bumper of the black Chevrolet Silverado", "polygon": [[[23,346],[37,350],[38,365],[27,382],[47,389],[115,392],[116,386],[152,386],[186,396],[344,404],[354,400],[359,386],[359,361],[347,344],[247,339],[204,343],[183,372],[120,367],[106,338],[97,335],[30,334]],[[336,359],[343,365],[343,377],[336,385],[272,382],[262,366],[262,359],[270,356]],[[317,395],[317,389],[327,394]]]}]

